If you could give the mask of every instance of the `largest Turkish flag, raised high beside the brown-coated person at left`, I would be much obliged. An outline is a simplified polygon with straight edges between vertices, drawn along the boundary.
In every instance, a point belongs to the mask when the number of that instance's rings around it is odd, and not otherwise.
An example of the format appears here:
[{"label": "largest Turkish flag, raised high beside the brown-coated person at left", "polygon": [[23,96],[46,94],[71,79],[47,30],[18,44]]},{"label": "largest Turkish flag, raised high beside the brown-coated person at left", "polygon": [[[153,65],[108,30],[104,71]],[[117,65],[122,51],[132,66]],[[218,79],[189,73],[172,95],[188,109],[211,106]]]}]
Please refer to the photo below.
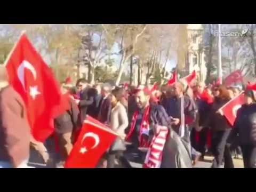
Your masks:
[{"label": "largest Turkish flag, raised high beside the brown-coated person at left", "polygon": [[[69,108],[51,69],[23,34],[6,61],[9,82],[27,107],[31,133],[44,142],[54,131],[52,119]],[[22,127],[21,127],[22,128]]]}]

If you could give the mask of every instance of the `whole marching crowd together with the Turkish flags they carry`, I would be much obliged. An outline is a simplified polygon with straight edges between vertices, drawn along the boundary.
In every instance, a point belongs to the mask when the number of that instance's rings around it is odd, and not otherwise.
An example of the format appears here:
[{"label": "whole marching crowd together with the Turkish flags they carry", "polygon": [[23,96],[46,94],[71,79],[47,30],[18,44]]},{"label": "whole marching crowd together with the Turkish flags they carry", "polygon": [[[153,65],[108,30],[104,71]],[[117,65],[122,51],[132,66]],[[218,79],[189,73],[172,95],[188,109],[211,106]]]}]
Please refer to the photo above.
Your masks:
[{"label": "whole marching crowd together with the Turkish flags they carry", "polygon": [[25,35],[5,64],[0,168],[28,167],[31,150],[60,168],[129,168],[134,153],[143,168],[192,168],[206,154],[212,168],[234,168],[234,156],[256,167],[256,85],[205,85],[194,71],[163,85],[59,86]]}]

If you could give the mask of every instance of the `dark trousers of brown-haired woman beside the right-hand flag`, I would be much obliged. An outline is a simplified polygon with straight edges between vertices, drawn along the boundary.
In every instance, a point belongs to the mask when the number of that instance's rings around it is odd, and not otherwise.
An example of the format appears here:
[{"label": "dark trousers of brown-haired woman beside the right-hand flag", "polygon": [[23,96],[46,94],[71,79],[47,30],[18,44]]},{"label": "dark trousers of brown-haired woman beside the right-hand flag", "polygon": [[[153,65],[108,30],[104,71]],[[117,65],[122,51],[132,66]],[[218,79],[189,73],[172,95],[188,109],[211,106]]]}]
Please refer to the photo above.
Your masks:
[{"label": "dark trousers of brown-haired woman beside the right-hand flag", "polygon": [[[219,168],[223,164],[223,158],[225,158],[226,163],[230,163],[229,157],[231,156],[229,150],[227,150],[227,139],[230,134],[230,129],[225,131],[217,131],[212,135],[212,153],[214,155],[214,160],[212,168]],[[226,165],[230,167],[231,165]]]}]

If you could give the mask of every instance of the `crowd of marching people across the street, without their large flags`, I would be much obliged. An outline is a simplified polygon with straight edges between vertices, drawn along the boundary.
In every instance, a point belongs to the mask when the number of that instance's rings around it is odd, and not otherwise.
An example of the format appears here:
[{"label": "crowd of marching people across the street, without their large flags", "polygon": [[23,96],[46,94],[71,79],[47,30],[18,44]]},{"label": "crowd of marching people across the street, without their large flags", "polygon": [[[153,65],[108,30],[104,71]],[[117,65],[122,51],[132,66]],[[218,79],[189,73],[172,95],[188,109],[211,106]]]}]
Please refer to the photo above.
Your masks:
[{"label": "crowd of marching people across the street, without their large flags", "polygon": [[[30,135],[25,105],[7,83],[4,68],[0,81],[0,167],[26,167],[28,145],[38,151],[47,166],[63,167],[87,115],[119,135],[98,167],[131,167],[126,154],[134,151],[139,153],[139,161],[145,162],[147,149],[161,127],[167,127],[168,133],[158,167],[193,167],[206,154],[214,157],[213,168],[234,167],[234,156],[243,158],[244,167],[256,167],[256,98],[252,90],[206,86],[202,82],[188,85],[185,81],[158,85],[157,89],[151,85],[126,87],[106,82],[91,85],[84,78],[78,79],[75,86],[63,82],[61,92],[69,94],[70,107],[54,119],[52,140],[42,143]],[[245,104],[231,126],[219,109],[241,92],[245,94]],[[13,122],[27,129],[14,130],[17,126]],[[48,143],[53,140],[58,146],[54,148],[58,158],[49,153]]]}]

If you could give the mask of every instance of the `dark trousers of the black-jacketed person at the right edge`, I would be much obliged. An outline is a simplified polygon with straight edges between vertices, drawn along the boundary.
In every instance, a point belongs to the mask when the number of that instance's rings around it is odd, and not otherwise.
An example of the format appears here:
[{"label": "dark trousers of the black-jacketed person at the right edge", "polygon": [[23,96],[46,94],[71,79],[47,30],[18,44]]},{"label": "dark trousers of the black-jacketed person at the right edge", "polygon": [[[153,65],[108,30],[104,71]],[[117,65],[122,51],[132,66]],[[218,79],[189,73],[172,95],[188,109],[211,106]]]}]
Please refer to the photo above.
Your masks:
[{"label": "dark trousers of the black-jacketed person at the right edge", "polygon": [[256,147],[252,145],[241,146],[244,168],[256,168]]}]

